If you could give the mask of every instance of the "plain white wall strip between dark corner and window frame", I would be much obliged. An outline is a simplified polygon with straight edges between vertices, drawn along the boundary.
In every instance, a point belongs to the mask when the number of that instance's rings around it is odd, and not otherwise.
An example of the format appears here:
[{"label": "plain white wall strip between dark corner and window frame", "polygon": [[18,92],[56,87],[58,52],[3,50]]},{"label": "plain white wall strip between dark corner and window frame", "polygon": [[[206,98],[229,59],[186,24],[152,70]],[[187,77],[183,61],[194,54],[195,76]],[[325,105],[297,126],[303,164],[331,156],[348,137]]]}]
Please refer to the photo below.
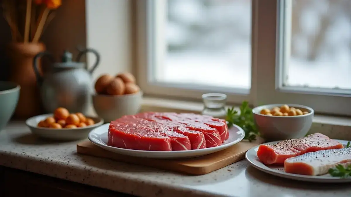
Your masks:
[{"label": "plain white wall strip between dark corner and window frame", "polygon": [[[129,0],[86,0],[86,46],[98,50],[101,62],[93,79],[103,74],[132,71]],[[95,62],[88,55],[89,66]]]}]

